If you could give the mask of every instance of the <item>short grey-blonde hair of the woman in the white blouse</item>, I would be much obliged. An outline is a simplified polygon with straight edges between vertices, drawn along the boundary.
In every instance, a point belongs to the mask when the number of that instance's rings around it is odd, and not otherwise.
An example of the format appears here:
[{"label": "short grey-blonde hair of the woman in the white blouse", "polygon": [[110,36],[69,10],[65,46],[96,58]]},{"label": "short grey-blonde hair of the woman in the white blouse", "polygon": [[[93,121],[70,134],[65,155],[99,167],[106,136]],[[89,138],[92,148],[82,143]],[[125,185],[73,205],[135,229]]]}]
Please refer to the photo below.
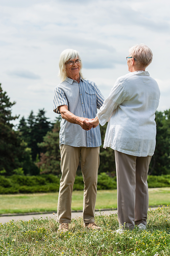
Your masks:
[{"label": "short grey-blonde hair of the woman in the white blouse", "polygon": [[148,67],[152,62],[153,54],[151,49],[141,43],[137,44],[129,49],[130,57],[134,57],[137,61],[140,62],[140,65],[143,67]]}]

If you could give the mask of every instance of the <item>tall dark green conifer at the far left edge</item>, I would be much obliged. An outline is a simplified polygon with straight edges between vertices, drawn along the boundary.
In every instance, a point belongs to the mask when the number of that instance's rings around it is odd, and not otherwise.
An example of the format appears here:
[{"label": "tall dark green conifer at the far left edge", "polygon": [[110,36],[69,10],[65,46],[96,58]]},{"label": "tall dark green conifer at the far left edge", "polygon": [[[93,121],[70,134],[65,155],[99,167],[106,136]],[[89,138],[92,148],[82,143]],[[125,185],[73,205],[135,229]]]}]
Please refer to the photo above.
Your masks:
[{"label": "tall dark green conifer at the far left edge", "polygon": [[6,92],[2,91],[0,84],[0,171],[5,170],[11,175],[14,169],[23,167],[23,162],[30,163],[30,152],[27,144],[13,130],[11,121],[19,116],[12,116],[11,108],[15,102],[10,102]]}]

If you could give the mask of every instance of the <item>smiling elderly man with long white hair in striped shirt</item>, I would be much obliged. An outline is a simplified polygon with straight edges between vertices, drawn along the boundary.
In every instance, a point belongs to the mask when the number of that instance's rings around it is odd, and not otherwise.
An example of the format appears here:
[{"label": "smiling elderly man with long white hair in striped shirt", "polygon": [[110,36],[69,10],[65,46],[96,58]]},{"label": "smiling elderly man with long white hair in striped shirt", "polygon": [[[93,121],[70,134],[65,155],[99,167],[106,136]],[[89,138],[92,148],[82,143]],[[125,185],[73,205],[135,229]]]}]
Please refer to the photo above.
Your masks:
[{"label": "smiling elderly man with long white hair in striped shirt", "polygon": [[84,227],[100,229],[95,222],[97,195],[97,175],[99,167],[99,146],[101,135],[99,126],[91,129],[88,120],[95,118],[97,108],[104,97],[97,85],[85,80],[81,73],[82,63],[79,53],[73,49],[64,50],[59,60],[61,83],[54,89],[54,112],[61,114],[60,191],[57,206],[58,231],[68,231],[71,221],[71,197],[75,174],[81,156],[84,180],[83,220]]}]

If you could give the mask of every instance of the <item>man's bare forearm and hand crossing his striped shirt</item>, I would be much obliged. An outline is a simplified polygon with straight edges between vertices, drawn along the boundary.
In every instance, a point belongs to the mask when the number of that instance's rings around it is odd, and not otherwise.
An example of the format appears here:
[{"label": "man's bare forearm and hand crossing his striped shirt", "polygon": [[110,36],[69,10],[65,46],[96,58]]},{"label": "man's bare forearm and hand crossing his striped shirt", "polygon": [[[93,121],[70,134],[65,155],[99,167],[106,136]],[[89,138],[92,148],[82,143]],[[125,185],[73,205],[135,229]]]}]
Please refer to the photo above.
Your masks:
[{"label": "man's bare forearm and hand crossing his striped shirt", "polygon": [[88,131],[91,129],[91,127],[93,127],[93,125],[89,124],[89,122],[87,121],[87,120],[91,120],[91,119],[75,116],[73,113],[71,113],[68,110],[67,105],[58,106],[58,110],[60,111],[63,119],[67,120],[70,123],[79,124],[83,130]]}]

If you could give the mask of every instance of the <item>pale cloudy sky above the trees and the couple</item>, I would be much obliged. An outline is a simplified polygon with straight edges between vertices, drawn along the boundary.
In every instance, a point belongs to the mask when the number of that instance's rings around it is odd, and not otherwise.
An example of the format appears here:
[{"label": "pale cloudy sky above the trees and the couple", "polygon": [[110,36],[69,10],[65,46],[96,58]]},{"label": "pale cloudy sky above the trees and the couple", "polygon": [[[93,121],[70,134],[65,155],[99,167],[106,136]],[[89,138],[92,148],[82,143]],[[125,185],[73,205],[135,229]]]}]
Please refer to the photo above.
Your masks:
[{"label": "pale cloudy sky above the trees and the couple", "polygon": [[145,43],[153,52],[147,68],[159,84],[158,110],[170,108],[169,0],[0,0],[0,83],[28,117],[45,109],[54,120],[53,89],[60,53],[79,51],[84,76],[105,97],[116,79],[128,73],[131,46]]}]

